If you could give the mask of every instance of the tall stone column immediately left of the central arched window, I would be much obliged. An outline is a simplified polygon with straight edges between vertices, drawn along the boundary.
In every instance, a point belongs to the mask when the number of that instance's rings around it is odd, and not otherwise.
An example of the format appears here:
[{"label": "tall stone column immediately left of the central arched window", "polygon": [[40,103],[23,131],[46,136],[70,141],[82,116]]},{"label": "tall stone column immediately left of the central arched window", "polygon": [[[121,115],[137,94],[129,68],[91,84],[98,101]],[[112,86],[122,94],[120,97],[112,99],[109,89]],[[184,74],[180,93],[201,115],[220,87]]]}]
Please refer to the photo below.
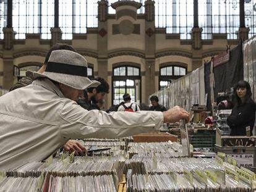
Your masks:
[{"label": "tall stone column immediately left of the central arched window", "polygon": [[[98,77],[108,81],[108,1],[98,1]],[[111,97],[111,82],[108,82],[109,94],[105,96],[105,109],[108,104],[108,98]]]}]

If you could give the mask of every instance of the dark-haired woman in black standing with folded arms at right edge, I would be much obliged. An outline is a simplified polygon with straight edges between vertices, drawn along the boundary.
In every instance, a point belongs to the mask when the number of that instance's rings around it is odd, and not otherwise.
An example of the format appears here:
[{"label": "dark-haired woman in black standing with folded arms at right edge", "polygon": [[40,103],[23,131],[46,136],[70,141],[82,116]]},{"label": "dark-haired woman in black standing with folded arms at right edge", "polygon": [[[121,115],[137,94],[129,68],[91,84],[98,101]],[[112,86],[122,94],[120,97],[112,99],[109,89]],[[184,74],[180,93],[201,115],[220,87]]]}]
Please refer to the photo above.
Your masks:
[{"label": "dark-haired woman in black standing with folded arms at right edge", "polygon": [[234,108],[228,117],[231,128],[230,135],[246,135],[246,127],[250,126],[250,135],[254,128],[255,102],[252,100],[252,91],[247,81],[239,81],[234,87]]}]

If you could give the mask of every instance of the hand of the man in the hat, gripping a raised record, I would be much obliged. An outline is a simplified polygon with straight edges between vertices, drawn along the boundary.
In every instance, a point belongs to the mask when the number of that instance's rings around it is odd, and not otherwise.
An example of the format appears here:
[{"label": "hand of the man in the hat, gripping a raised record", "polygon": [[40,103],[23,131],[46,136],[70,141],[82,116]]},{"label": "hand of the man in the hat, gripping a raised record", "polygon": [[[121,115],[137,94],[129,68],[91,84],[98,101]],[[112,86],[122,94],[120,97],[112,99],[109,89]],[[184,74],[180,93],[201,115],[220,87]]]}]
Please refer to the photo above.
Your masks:
[{"label": "hand of the man in the hat, gripping a raised record", "polygon": [[189,121],[189,113],[179,106],[175,106],[168,111],[164,111],[163,115],[164,123],[174,123],[181,119],[186,119],[186,122]]}]

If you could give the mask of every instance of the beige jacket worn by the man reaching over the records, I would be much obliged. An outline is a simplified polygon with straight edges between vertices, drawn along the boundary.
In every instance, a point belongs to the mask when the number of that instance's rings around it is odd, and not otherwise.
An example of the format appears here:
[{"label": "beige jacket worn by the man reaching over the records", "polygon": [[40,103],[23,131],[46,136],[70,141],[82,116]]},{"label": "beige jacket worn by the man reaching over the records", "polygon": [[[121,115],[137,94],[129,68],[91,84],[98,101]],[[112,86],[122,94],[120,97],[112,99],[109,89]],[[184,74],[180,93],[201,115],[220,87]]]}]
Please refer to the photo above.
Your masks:
[{"label": "beige jacket worn by the man reaching over the records", "polygon": [[42,161],[76,138],[121,138],[158,129],[162,112],[87,111],[50,80],[0,97],[0,170]]}]

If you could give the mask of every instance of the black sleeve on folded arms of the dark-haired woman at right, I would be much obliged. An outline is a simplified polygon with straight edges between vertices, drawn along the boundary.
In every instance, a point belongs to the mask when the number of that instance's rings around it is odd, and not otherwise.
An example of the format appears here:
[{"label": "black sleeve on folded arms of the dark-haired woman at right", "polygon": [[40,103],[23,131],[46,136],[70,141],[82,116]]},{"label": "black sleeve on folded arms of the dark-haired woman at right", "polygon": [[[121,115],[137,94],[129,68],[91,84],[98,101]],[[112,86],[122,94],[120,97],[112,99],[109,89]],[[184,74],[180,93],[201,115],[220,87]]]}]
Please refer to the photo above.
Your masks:
[{"label": "black sleeve on folded arms of the dark-haired woman at right", "polygon": [[255,119],[255,104],[248,102],[239,114],[236,115],[232,111],[227,122],[229,126],[241,126],[249,124],[252,119]]}]

